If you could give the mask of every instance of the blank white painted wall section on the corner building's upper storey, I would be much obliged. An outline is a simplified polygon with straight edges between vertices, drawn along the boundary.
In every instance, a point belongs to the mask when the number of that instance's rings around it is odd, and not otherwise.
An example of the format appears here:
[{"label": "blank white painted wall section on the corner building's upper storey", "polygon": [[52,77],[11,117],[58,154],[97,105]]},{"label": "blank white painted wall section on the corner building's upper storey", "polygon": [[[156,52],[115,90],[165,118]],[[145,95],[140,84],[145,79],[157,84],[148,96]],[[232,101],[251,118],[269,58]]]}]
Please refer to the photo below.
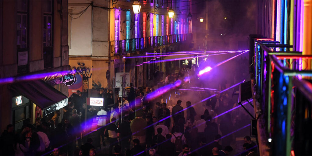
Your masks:
[{"label": "blank white painted wall section on the corner building's upper storey", "polygon": [[[73,13],[81,12],[89,5],[83,3],[87,1],[79,1],[81,2],[80,4],[71,2],[72,1],[68,2],[68,6],[69,9],[72,9]],[[68,36],[68,40],[71,40],[69,55],[90,56],[92,55],[91,6],[83,15],[77,18],[78,16],[79,15],[74,15],[71,19],[69,17],[69,20],[71,20],[71,27],[68,28],[68,31],[71,31],[71,36]]]}]

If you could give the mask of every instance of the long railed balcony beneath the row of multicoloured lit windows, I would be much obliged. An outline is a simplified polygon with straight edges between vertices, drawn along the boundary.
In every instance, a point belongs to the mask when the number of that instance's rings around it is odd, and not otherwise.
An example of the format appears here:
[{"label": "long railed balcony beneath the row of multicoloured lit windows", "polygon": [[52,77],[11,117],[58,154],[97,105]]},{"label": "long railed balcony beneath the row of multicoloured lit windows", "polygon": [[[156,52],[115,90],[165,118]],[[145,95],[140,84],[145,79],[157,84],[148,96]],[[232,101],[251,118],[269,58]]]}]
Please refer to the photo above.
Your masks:
[{"label": "long railed balcony beneath the row of multicoloured lit windows", "polygon": [[178,43],[183,41],[191,41],[193,34],[177,34],[168,36],[154,36],[145,38],[133,38],[129,40],[114,41],[115,56],[123,55],[126,53],[132,53],[135,51],[141,51],[144,49],[164,46],[172,43]]}]

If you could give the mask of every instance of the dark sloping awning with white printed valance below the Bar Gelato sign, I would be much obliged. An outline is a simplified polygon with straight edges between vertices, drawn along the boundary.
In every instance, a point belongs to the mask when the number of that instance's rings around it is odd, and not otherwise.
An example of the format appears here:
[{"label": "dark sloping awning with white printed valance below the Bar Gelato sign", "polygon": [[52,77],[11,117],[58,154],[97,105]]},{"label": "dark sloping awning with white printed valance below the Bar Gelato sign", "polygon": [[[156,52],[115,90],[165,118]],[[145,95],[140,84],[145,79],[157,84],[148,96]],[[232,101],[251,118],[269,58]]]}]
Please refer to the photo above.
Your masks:
[{"label": "dark sloping awning with white printed valance below the Bar Gelato sign", "polygon": [[65,107],[68,104],[68,97],[60,91],[46,84],[43,80],[30,80],[13,83],[12,89],[19,92],[39,108],[45,115]]}]

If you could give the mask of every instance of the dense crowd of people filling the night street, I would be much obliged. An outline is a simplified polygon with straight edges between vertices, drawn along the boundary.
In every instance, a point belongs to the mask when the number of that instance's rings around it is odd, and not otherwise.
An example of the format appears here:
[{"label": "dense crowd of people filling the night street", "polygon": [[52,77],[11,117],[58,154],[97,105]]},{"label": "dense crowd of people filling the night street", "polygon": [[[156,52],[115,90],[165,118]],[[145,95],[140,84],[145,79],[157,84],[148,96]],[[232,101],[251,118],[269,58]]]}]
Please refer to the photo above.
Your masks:
[{"label": "dense crowd of people filling the night street", "polygon": [[[157,81],[158,88],[177,80],[187,86],[192,72],[182,69],[168,74]],[[218,90],[224,88],[221,83]],[[153,94],[158,96],[150,99]],[[190,94],[177,88],[159,94],[155,86],[144,90],[130,83],[128,96],[123,98],[100,89],[98,97],[104,98],[104,105],[97,107],[86,105],[77,91],[66,107],[37,119],[36,124],[28,118],[16,131],[12,124],[7,125],[0,138],[0,155],[258,155],[249,129],[235,131],[250,120],[239,109],[227,112],[237,107],[230,95],[214,90]],[[139,109],[148,125],[143,143],[131,137],[138,133],[130,128],[138,110],[136,99],[140,99]],[[96,130],[92,129],[94,121]],[[233,146],[236,137],[244,137],[245,151],[239,153]]]}]

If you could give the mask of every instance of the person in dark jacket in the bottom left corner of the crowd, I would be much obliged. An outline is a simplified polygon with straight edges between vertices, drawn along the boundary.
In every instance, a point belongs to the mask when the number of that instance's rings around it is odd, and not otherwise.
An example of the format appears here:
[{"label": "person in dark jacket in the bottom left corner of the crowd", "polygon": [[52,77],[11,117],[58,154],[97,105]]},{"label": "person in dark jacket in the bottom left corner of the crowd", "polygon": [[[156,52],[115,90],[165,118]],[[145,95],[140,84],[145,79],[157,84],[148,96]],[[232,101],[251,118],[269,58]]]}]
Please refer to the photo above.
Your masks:
[{"label": "person in dark jacket in the bottom left corner of the crowd", "polygon": [[7,125],[0,137],[0,155],[14,155],[14,127]]}]

